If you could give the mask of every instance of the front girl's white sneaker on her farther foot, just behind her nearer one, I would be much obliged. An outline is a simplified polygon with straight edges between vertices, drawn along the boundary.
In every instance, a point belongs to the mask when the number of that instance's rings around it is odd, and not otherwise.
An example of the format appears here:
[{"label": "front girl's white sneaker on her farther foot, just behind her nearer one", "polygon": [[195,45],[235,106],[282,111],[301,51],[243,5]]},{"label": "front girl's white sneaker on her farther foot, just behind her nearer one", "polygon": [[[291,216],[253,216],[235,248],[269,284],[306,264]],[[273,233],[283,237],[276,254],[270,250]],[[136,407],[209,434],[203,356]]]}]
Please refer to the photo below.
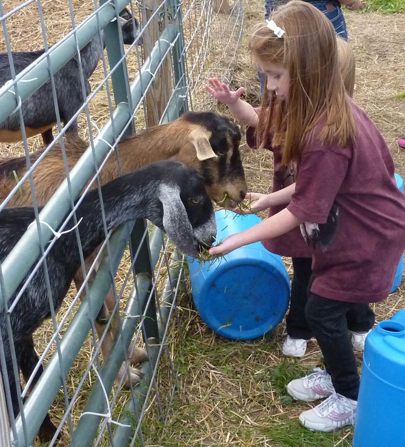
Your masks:
[{"label": "front girl's white sneaker on her farther foot, just behind her nearer one", "polygon": [[296,400],[312,402],[329,397],[335,392],[331,376],[320,368],[302,379],[294,379],[287,385],[287,392]]}]

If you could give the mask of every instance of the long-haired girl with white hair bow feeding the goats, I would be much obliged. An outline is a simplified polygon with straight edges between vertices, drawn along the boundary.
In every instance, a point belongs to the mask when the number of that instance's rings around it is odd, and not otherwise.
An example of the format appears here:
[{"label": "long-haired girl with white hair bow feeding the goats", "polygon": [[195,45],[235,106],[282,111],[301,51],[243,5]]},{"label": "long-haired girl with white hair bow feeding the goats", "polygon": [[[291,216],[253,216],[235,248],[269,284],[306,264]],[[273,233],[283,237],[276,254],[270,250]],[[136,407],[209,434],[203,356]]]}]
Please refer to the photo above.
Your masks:
[{"label": "long-haired girl with white hair bow feeding the goats", "polygon": [[[210,254],[279,237],[300,226],[312,253],[307,322],[326,371],[291,381],[295,399],[321,404],[300,415],[312,430],[333,431],[354,421],[359,376],[346,316],[385,299],[405,248],[405,199],[382,136],[345,94],[337,40],[330,21],[308,3],[293,0],[273,21],[258,25],[250,49],[267,75],[258,115],[236,92],[222,98],[257,138],[282,147],[281,162],[296,163],[295,183],[261,195],[254,211],[288,204],[258,225],[226,238]],[[221,99],[220,99],[221,100]],[[252,197],[255,199],[255,197]]]}]

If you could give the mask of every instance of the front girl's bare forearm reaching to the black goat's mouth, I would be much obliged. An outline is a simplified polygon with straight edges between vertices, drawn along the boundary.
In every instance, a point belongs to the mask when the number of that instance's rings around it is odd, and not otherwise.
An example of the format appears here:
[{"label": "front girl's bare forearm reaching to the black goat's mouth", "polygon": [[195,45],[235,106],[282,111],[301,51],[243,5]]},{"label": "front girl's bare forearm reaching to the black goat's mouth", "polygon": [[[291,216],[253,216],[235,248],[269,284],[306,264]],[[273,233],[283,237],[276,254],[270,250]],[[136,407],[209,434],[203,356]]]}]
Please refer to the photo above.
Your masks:
[{"label": "front girl's bare forearm reaching to the black goat's mouth", "polygon": [[276,238],[298,227],[301,223],[303,223],[302,219],[285,208],[248,230],[228,236],[221,244],[210,248],[210,255],[224,255],[244,245]]}]

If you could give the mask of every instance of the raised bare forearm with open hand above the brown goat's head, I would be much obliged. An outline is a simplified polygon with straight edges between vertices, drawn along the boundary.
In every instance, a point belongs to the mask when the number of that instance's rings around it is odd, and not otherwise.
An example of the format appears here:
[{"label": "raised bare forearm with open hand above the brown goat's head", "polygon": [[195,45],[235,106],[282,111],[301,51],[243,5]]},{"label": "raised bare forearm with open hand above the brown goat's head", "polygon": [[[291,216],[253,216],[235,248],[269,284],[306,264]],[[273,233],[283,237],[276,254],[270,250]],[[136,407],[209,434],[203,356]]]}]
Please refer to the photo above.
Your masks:
[{"label": "raised bare forearm with open hand above the brown goat's head", "polygon": [[209,78],[210,85],[206,85],[209,93],[221,103],[228,106],[232,115],[241,123],[247,126],[257,127],[259,117],[255,109],[245,101],[240,99],[240,95],[244,93],[245,88],[239,87],[236,92],[231,92],[224,82],[220,82],[217,78]]}]

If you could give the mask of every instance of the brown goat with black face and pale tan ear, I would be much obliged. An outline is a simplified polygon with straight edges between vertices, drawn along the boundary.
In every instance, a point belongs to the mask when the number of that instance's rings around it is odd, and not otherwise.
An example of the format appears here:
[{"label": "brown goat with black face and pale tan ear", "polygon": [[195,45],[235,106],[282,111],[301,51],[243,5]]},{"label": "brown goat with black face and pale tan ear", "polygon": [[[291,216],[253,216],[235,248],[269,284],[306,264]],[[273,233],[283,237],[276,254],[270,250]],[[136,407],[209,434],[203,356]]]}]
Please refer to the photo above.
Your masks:
[{"label": "brown goat with black face and pale tan ear", "polygon": [[[149,127],[133,137],[121,140],[117,145],[122,173],[131,172],[150,162],[164,159],[180,161],[194,167],[204,178],[210,197],[220,205],[227,205],[224,198],[229,196],[232,202],[240,202],[245,198],[247,186],[244,169],[240,160],[239,127],[227,117],[213,112],[189,112],[171,123]],[[71,169],[88,147],[78,137],[68,137],[65,150],[69,169]],[[31,164],[42,154],[38,151],[31,154]],[[15,186],[15,177],[21,178],[27,171],[26,158],[0,159],[0,202],[3,201]],[[100,182],[105,184],[118,177],[118,166],[115,157],[110,157],[100,172]],[[32,172],[36,200],[45,205],[57,187],[65,178],[65,167],[61,148],[56,145]],[[28,182],[21,186],[20,193],[14,195],[8,206],[32,206],[31,189]],[[87,269],[95,256],[86,260]],[[83,272],[79,269],[74,277],[77,290],[83,284]],[[106,308],[112,310],[115,305],[114,295],[110,291],[106,296]],[[99,338],[104,332],[108,311],[103,307],[96,329]],[[104,360],[107,359],[113,336],[116,331],[113,322],[111,331],[105,335],[102,343]],[[133,365],[145,360],[143,350],[137,348],[131,357]],[[121,370],[119,377],[123,374]],[[131,370],[131,380],[139,380],[137,370]]]}]

